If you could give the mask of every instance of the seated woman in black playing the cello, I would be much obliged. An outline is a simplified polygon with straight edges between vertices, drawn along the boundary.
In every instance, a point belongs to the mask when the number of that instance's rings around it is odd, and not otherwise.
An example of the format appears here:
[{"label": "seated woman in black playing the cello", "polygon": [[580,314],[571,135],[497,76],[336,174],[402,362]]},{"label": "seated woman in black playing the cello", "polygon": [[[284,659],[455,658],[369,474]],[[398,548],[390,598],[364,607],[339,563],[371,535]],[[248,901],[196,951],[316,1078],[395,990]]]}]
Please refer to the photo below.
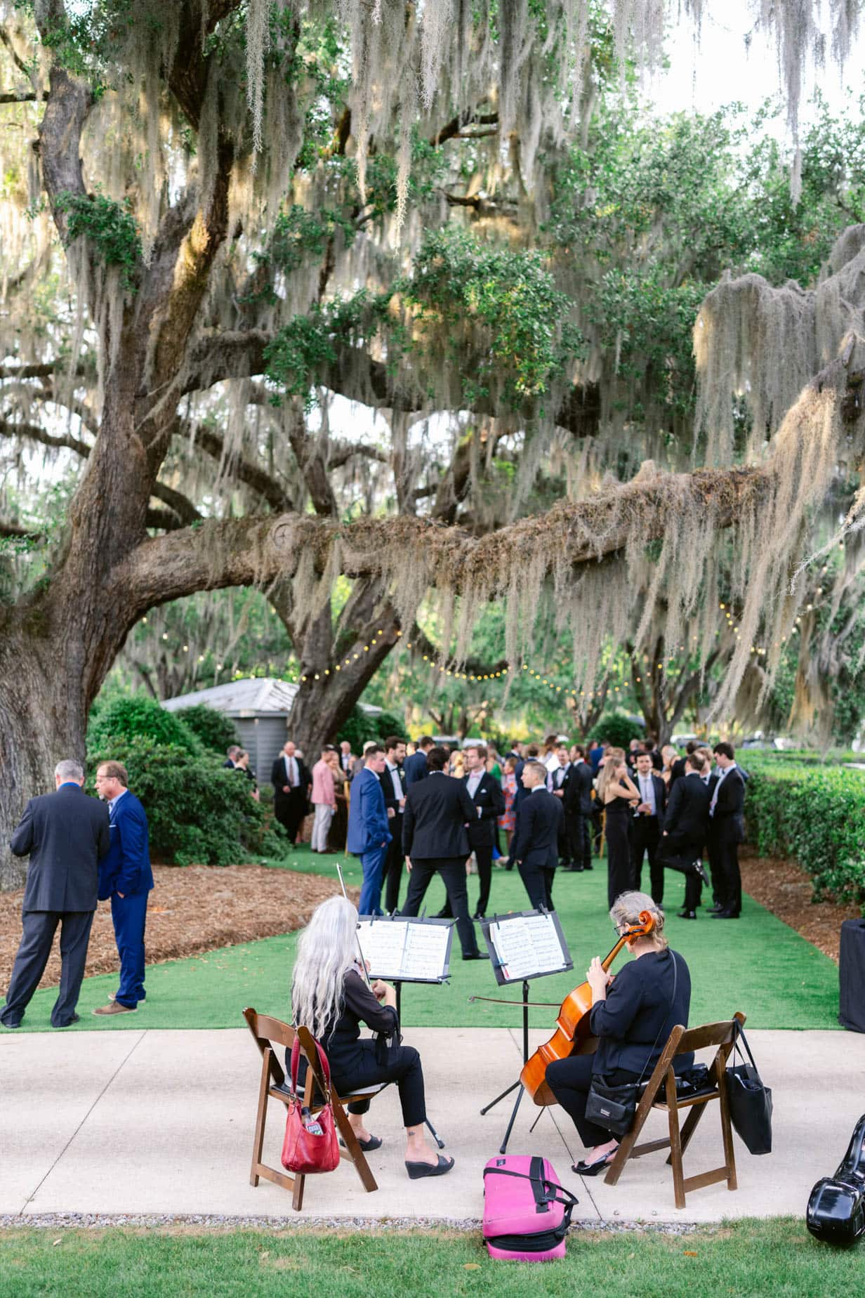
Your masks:
[{"label": "seated woman in black playing the cello", "polygon": [[[691,976],[678,951],[669,949],[664,936],[664,911],[647,893],[621,893],[610,918],[616,935],[639,925],[641,911],[655,920],[647,936],[628,938],[635,958],[615,976],[595,955],[586,975],[591,986],[591,1033],[598,1037],[595,1054],[572,1054],[546,1068],[550,1090],[573,1119],[587,1153],[573,1164],[580,1176],[598,1176],[619,1149],[619,1141],[603,1127],[586,1119],[586,1101],[593,1073],[603,1073],[610,1085],[622,1085],[651,1076],[672,1028],[687,1027],[691,1002]],[[676,977],[673,977],[676,968]],[[674,996],[673,996],[674,986]],[[693,1066],[693,1055],[676,1060],[678,1070]]]}]

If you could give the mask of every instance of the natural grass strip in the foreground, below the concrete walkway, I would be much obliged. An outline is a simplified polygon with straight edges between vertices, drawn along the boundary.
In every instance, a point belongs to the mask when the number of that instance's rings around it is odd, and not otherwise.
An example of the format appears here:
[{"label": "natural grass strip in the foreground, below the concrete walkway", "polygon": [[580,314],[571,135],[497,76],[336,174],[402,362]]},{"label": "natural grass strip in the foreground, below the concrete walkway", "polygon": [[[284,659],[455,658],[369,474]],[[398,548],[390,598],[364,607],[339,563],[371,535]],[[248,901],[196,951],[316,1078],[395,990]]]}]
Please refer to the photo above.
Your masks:
[{"label": "natural grass strip in the foreground, below the concrete walkway", "polygon": [[315,1294],[316,1298],[524,1298],[772,1294],[849,1298],[862,1254],[812,1240],[794,1219],[737,1221],[682,1236],[575,1231],[567,1256],[530,1268],[494,1262],[480,1233],[0,1232],[0,1293],[14,1298]]}]

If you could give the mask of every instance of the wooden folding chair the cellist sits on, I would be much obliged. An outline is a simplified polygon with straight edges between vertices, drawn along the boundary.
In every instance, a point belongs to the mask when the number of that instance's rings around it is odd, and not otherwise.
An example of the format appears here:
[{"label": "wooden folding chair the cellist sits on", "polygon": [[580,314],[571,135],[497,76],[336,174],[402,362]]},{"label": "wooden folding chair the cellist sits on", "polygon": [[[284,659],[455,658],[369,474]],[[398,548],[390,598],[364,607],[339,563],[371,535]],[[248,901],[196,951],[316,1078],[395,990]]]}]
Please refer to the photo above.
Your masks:
[{"label": "wooden folding chair the cellist sits on", "polygon": [[[634,1123],[616,1150],[616,1157],[610,1164],[610,1171],[604,1177],[607,1185],[615,1185],[621,1176],[622,1168],[629,1158],[642,1158],[656,1149],[668,1149],[667,1162],[673,1168],[673,1189],[676,1193],[676,1207],[685,1207],[685,1192],[699,1190],[704,1185],[715,1185],[717,1181],[726,1181],[728,1190],[735,1190],[735,1158],[733,1154],[733,1129],[730,1127],[730,1106],[726,1094],[726,1063],[735,1041],[737,1023],[744,1025],[744,1015],[735,1014],[728,1023],[708,1023],[702,1028],[686,1031],[681,1024],[673,1028],[664,1046],[663,1054],[648,1079],[642,1099],[634,1114]],[[673,1060],[677,1055],[683,1055],[691,1050],[703,1050],[705,1046],[717,1046],[715,1059],[709,1067],[711,1089],[678,1098],[676,1094],[676,1073]],[[659,1098],[660,1097],[660,1098]],[[716,1167],[711,1172],[699,1172],[696,1176],[685,1176],[682,1171],[682,1154],[689,1146],[691,1136],[696,1129],[705,1106],[709,1101],[717,1099],[721,1112],[721,1141],[724,1145],[724,1167]],[[650,1108],[667,1110],[669,1120],[669,1136],[665,1140],[651,1140],[643,1145],[635,1145],[637,1137],[643,1129]],[[681,1108],[690,1108],[685,1124],[680,1131],[678,1114]]]}]

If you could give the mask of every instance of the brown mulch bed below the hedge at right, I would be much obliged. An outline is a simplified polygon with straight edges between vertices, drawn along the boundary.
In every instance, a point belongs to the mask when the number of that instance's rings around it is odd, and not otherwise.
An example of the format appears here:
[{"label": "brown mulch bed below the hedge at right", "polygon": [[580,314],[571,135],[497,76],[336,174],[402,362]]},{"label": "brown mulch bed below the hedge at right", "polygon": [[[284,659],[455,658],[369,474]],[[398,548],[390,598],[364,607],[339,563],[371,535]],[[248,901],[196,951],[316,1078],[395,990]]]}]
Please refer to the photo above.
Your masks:
[{"label": "brown mulch bed below the hedge at right", "polygon": [[739,866],[743,889],[838,964],[842,922],[859,919],[859,906],[813,902],[813,880],[795,861],[757,857],[742,848]]}]

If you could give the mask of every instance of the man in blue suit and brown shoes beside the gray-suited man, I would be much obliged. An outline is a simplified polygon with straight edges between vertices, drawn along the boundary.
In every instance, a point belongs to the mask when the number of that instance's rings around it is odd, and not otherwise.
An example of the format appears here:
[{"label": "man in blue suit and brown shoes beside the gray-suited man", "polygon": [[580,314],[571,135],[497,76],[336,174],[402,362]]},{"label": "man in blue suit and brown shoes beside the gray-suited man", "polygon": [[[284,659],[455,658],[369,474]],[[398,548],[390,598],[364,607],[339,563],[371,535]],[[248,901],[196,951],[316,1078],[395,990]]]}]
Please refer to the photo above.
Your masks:
[{"label": "man in blue suit and brown shoes beside the gray-suited man", "polygon": [[144,807],[128,789],[121,762],[102,762],[96,792],[108,802],[112,845],[99,867],[99,900],[112,898],[114,937],[121,957],[121,985],[108,1005],[93,1014],[134,1014],[144,990],[144,928],[147,898],[153,888],[150,848]]}]

